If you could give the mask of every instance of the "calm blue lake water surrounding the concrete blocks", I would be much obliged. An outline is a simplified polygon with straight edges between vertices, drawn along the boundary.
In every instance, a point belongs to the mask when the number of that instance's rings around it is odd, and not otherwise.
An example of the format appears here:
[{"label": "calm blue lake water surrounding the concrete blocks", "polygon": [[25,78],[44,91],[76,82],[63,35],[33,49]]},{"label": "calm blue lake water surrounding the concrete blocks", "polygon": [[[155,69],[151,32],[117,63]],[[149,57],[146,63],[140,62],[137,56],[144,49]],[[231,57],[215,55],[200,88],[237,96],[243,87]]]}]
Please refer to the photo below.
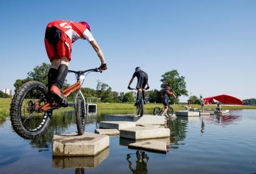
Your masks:
[{"label": "calm blue lake water surrounding the concrete blocks", "polygon": [[[87,118],[86,131],[94,133],[105,114],[134,112],[99,110]],[[136,150],[111,137],[110,147],[96,157],[52,158],[52,136],[76,132],[72,110],[54,112],[47,131],[37,140],[19,137],[6,120],[0,123],[0,173],[256,173],[256,110],[177,117],[168,120],[168,127],[166,155],[145,152],[147,158],[139,161]]]}]

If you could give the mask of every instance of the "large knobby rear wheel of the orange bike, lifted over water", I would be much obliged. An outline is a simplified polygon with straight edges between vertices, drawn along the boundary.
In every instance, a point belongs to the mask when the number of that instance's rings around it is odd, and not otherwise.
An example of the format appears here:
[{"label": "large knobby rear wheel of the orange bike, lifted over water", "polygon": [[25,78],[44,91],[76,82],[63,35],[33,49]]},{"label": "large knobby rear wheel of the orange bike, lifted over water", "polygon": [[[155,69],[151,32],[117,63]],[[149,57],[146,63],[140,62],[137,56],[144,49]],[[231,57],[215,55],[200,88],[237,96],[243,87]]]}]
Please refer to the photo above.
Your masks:
[{"label": "large knobby rear wheel of the orange bike, lifted over water", "polygon": [[30,81],[23,84],[12,98],[11,123],[15,132],[22,138],[37,138],[49,125],[52,112],[40,110],[40,107],[47,103],[46,94],[46,85]]}]

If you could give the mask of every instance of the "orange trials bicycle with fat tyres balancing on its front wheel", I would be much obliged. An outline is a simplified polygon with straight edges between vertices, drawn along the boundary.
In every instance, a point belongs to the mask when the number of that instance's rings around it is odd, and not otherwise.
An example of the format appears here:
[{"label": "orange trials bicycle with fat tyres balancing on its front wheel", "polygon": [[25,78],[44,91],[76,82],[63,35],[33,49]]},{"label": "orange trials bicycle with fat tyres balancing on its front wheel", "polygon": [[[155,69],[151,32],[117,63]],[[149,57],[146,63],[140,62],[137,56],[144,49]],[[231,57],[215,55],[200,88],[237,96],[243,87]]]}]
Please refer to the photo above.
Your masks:
[{"label": "orange trials bicycle with fat tyres balancing on its front wheel", "polygon": [[[69,70],[76,74],[76,84],[63,90],[65,97],[76,93],[73,98],[76,110],[76,124],[79,135],[84,134],[86,125],[86,102],[81,92],[84,78],[90,72],[102,72],[101,69]],[[84,75],[86,74],[86,75]],[[81,84],[81,80],[82,84]],[[39,137],[50,123],[52,110],[60,106],[53,101],[47,100],[47,87],[41,82],[29,81],[23,84],[12,98],[10,117],[15,132],[23,138],[34,139]],[[79,96],[80,95],[80,96]]]}]

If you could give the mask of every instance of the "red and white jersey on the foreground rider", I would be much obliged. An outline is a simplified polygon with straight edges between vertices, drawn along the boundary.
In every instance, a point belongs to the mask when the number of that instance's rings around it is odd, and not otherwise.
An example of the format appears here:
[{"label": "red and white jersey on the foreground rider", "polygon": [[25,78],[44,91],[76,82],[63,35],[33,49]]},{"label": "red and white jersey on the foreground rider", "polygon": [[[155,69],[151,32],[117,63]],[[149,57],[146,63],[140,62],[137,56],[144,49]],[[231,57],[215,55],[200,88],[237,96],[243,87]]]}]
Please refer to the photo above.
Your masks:
[{"label": "red and white jersey on the foreground rider", "polygon": [[65,32],[69,39],[71,39],[71,42],[75,42],[77,39],[86,39],[88,42],[95,41],[89,29],[79,22],[64,20],[52,21],[47,25],[46,29],[53,26]]}]

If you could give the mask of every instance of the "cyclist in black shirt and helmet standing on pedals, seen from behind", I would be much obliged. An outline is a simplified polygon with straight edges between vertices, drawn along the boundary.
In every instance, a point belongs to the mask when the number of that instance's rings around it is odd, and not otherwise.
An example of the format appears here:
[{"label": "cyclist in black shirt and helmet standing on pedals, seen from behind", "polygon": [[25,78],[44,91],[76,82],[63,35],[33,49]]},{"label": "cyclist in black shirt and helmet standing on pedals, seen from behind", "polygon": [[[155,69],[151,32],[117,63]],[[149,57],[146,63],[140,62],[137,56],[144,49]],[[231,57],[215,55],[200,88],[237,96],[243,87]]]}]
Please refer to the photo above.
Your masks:
[{"label": "cyclist in black shirt and helmet standing on pedals, seen from behind", "polygon": [[149,89],[149,82],[148,82],[148,77],[147,77],[147,73],[145,73],[143,70],[140,69],[140,67],[136,67],[135,68],[135,72],[134,75],[132,75],[132,79],[130,79],[129,85],[128,85],[128,89],[130,88],[130,84],[132,84],[134,78],[137,77],[137,85],[136,85],[136,89],[138,90],[137,92],[137,100],[135,105],[138,104],[139,102],[139,97],[140,94],[142,93],[142,97],[144,100],[144,104],[145,104],[145,85],[147,85],[147,90]]}]

